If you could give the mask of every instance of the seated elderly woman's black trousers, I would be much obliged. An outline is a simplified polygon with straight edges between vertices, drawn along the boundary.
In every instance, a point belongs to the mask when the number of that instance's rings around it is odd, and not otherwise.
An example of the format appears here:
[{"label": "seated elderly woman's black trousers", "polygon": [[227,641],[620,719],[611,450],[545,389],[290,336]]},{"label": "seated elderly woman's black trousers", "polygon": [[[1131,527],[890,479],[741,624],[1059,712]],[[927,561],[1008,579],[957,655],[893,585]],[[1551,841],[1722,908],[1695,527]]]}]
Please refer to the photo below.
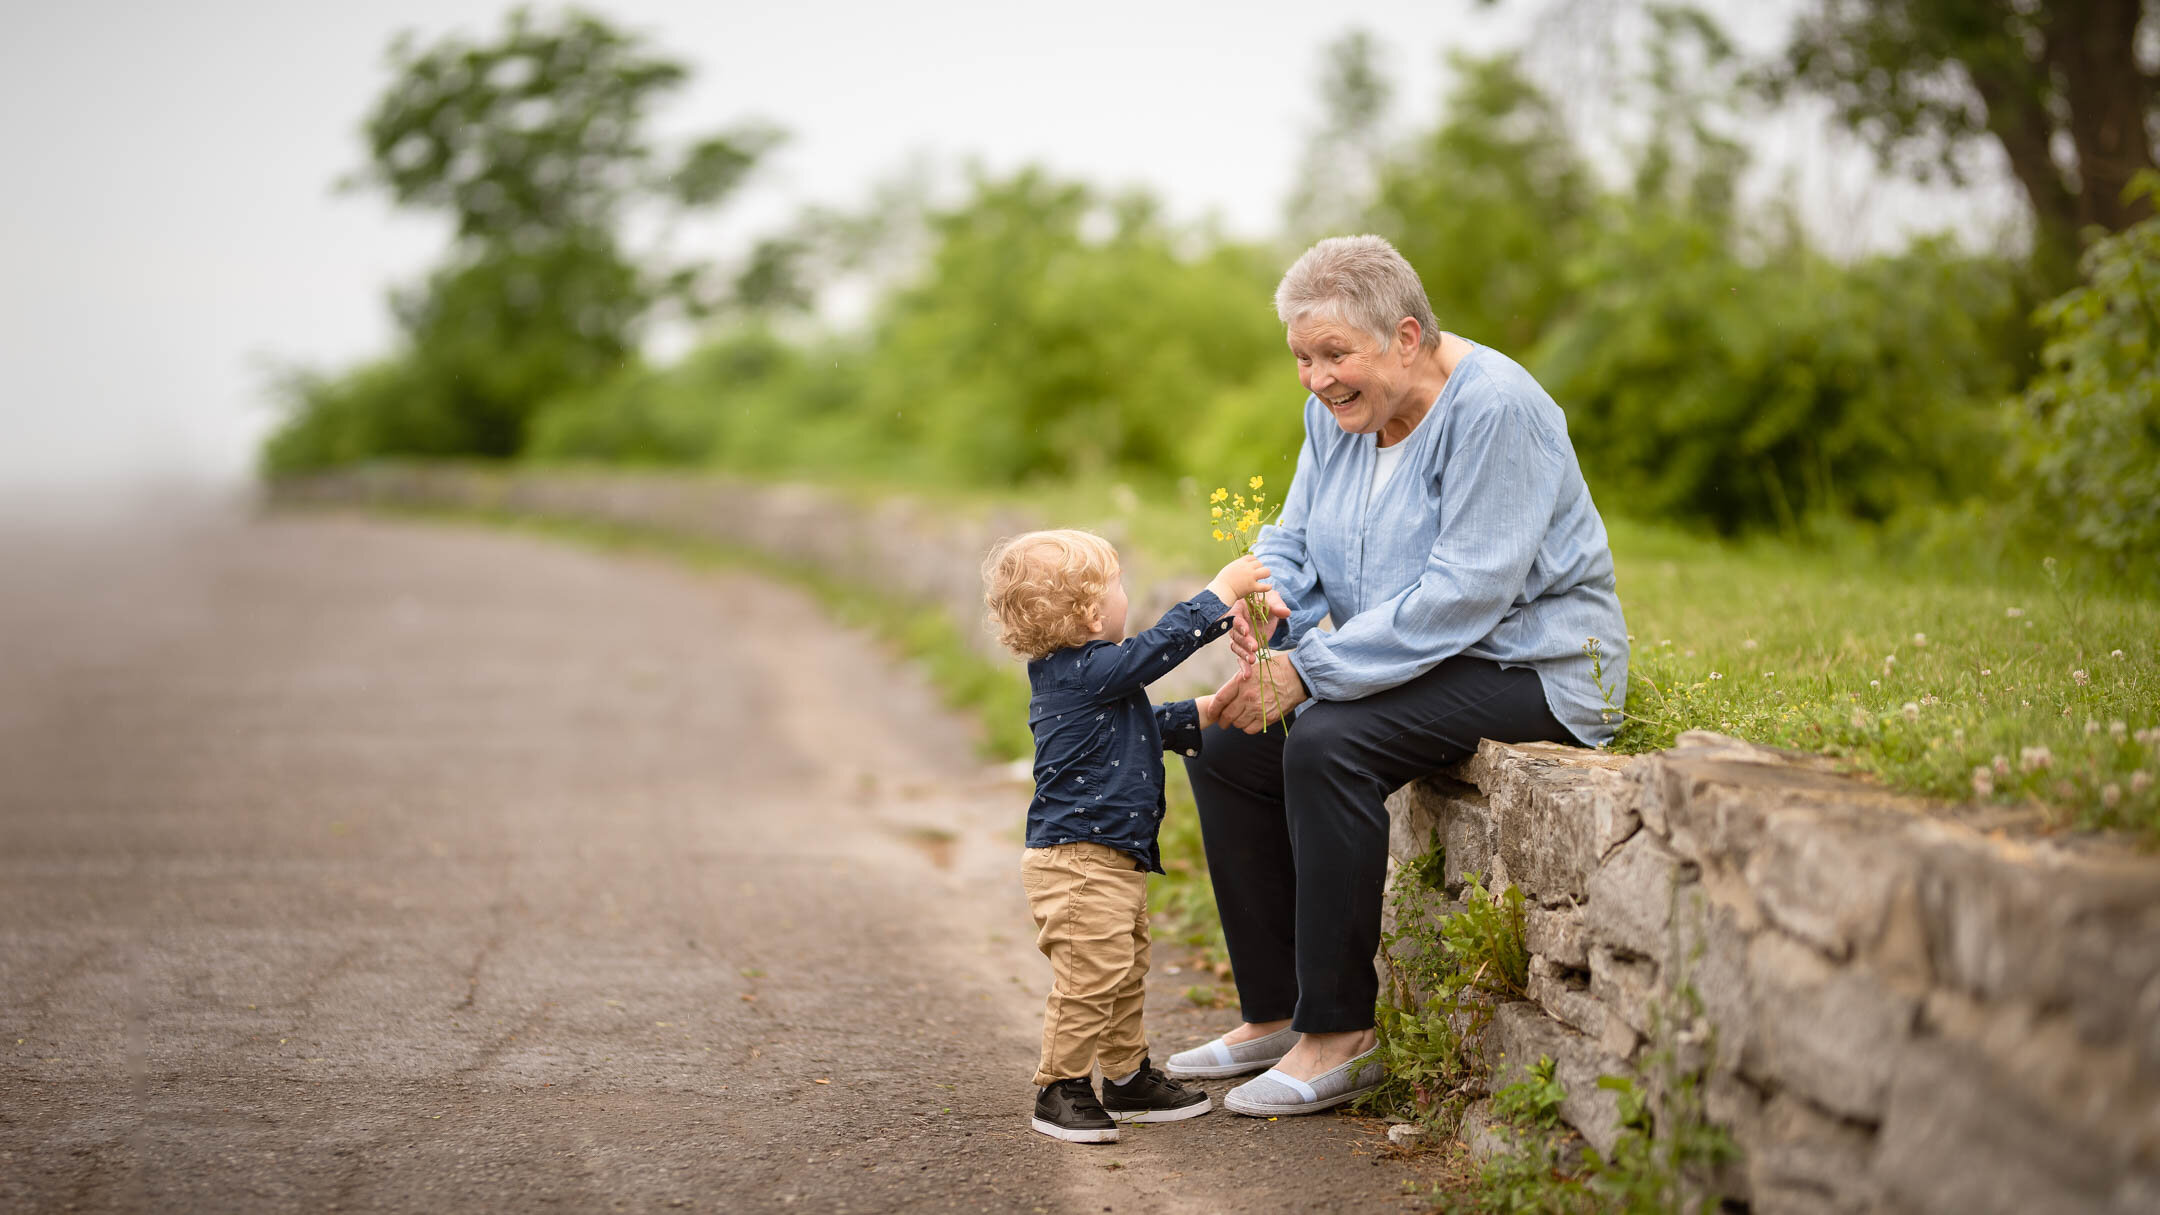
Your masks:
[{"label": "seated elderly woman's black trousers", "polygon": [[1311,705],[1287,735],[1205,731],[1186,774],[1246,1020],[1372,1029],[1387,796],[1486,737],[1577,744],[1536,670],[1477,657],[1363,700]]}]

